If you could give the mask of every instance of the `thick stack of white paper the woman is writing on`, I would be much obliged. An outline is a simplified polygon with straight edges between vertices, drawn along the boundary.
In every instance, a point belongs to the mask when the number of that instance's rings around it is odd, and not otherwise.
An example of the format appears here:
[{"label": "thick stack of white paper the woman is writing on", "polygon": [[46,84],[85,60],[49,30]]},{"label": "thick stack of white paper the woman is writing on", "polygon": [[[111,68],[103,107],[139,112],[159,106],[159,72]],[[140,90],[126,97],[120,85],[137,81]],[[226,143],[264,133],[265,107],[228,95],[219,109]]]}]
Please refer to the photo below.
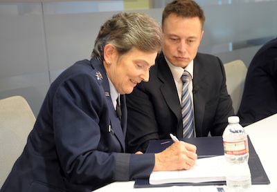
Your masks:
[{"label": "thick stack of white paper the woman is writing on", "polygon": [[153,171],[150,184],[199,183],[225,181],[224,155],[197,159],[195,166],[184,171]]}]

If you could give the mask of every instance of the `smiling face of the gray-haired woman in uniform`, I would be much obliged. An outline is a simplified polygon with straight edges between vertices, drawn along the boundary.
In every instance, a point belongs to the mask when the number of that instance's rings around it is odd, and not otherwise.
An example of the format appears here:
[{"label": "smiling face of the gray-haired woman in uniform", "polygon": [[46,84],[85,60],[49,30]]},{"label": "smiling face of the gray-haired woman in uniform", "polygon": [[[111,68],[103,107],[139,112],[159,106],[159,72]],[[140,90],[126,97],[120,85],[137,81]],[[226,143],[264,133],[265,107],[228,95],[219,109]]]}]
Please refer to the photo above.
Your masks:
[{"label": "smiling face of the gray-haired woman in uniform", "polygon": [[[157,51],[143,52],[132,48],[124,55],[114,50],[110,64],[104,62],[107,75],[120,94],[132,93],[136,84],[149,80],[149,70],[154,66]],[[107,60],[106,60],[107,61]]]}]

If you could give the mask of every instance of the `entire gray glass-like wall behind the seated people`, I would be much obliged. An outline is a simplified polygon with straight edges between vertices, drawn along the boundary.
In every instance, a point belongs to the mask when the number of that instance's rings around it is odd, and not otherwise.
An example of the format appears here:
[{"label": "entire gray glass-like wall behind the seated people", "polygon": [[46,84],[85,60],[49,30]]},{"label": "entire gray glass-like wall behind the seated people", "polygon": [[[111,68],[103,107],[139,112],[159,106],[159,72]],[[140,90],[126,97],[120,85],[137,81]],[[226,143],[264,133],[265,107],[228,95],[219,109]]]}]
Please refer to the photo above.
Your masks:
[{"label": "entire gray glass-like wall behind the seated people", "polygon": [[[168,0],[142,11],[161,22]],[[277,0],[197,0],[206,15],[199,51],[224,63],[248,66],[258,48],[277,35]],[[123,1],[0,3],[0,99],[26,97],[35,115],[51,82],[80,59],[89,59],[103,22]]]}]

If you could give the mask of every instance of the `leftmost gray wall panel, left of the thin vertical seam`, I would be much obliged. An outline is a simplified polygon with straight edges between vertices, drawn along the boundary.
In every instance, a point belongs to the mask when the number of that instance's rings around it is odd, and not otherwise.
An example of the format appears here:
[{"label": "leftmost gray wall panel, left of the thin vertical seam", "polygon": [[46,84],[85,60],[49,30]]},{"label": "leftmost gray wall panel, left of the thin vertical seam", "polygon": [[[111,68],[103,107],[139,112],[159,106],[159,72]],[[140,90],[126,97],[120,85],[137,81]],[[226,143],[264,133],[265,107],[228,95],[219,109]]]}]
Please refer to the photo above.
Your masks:
[{"label": "leftmost gray wall panel, left of the thin vertical seam", "polygon": [[26,97],[35,115],[50,84],[42,3],[0,3],[0,98]]}]

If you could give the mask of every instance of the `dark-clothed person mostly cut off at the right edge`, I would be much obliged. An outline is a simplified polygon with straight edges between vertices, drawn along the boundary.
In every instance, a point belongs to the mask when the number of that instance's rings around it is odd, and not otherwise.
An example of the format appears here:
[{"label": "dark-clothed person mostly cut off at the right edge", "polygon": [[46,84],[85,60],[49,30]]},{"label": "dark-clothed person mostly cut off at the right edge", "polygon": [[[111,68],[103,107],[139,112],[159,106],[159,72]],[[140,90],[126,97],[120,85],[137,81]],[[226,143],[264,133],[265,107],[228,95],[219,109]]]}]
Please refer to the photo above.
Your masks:
[{"label": "dark-clothed person mostly cut off at the right edge", "polygon": [[267,42],[253,57],[247,70],[238,111],[242,125],[277,113],[277,39]]}]

